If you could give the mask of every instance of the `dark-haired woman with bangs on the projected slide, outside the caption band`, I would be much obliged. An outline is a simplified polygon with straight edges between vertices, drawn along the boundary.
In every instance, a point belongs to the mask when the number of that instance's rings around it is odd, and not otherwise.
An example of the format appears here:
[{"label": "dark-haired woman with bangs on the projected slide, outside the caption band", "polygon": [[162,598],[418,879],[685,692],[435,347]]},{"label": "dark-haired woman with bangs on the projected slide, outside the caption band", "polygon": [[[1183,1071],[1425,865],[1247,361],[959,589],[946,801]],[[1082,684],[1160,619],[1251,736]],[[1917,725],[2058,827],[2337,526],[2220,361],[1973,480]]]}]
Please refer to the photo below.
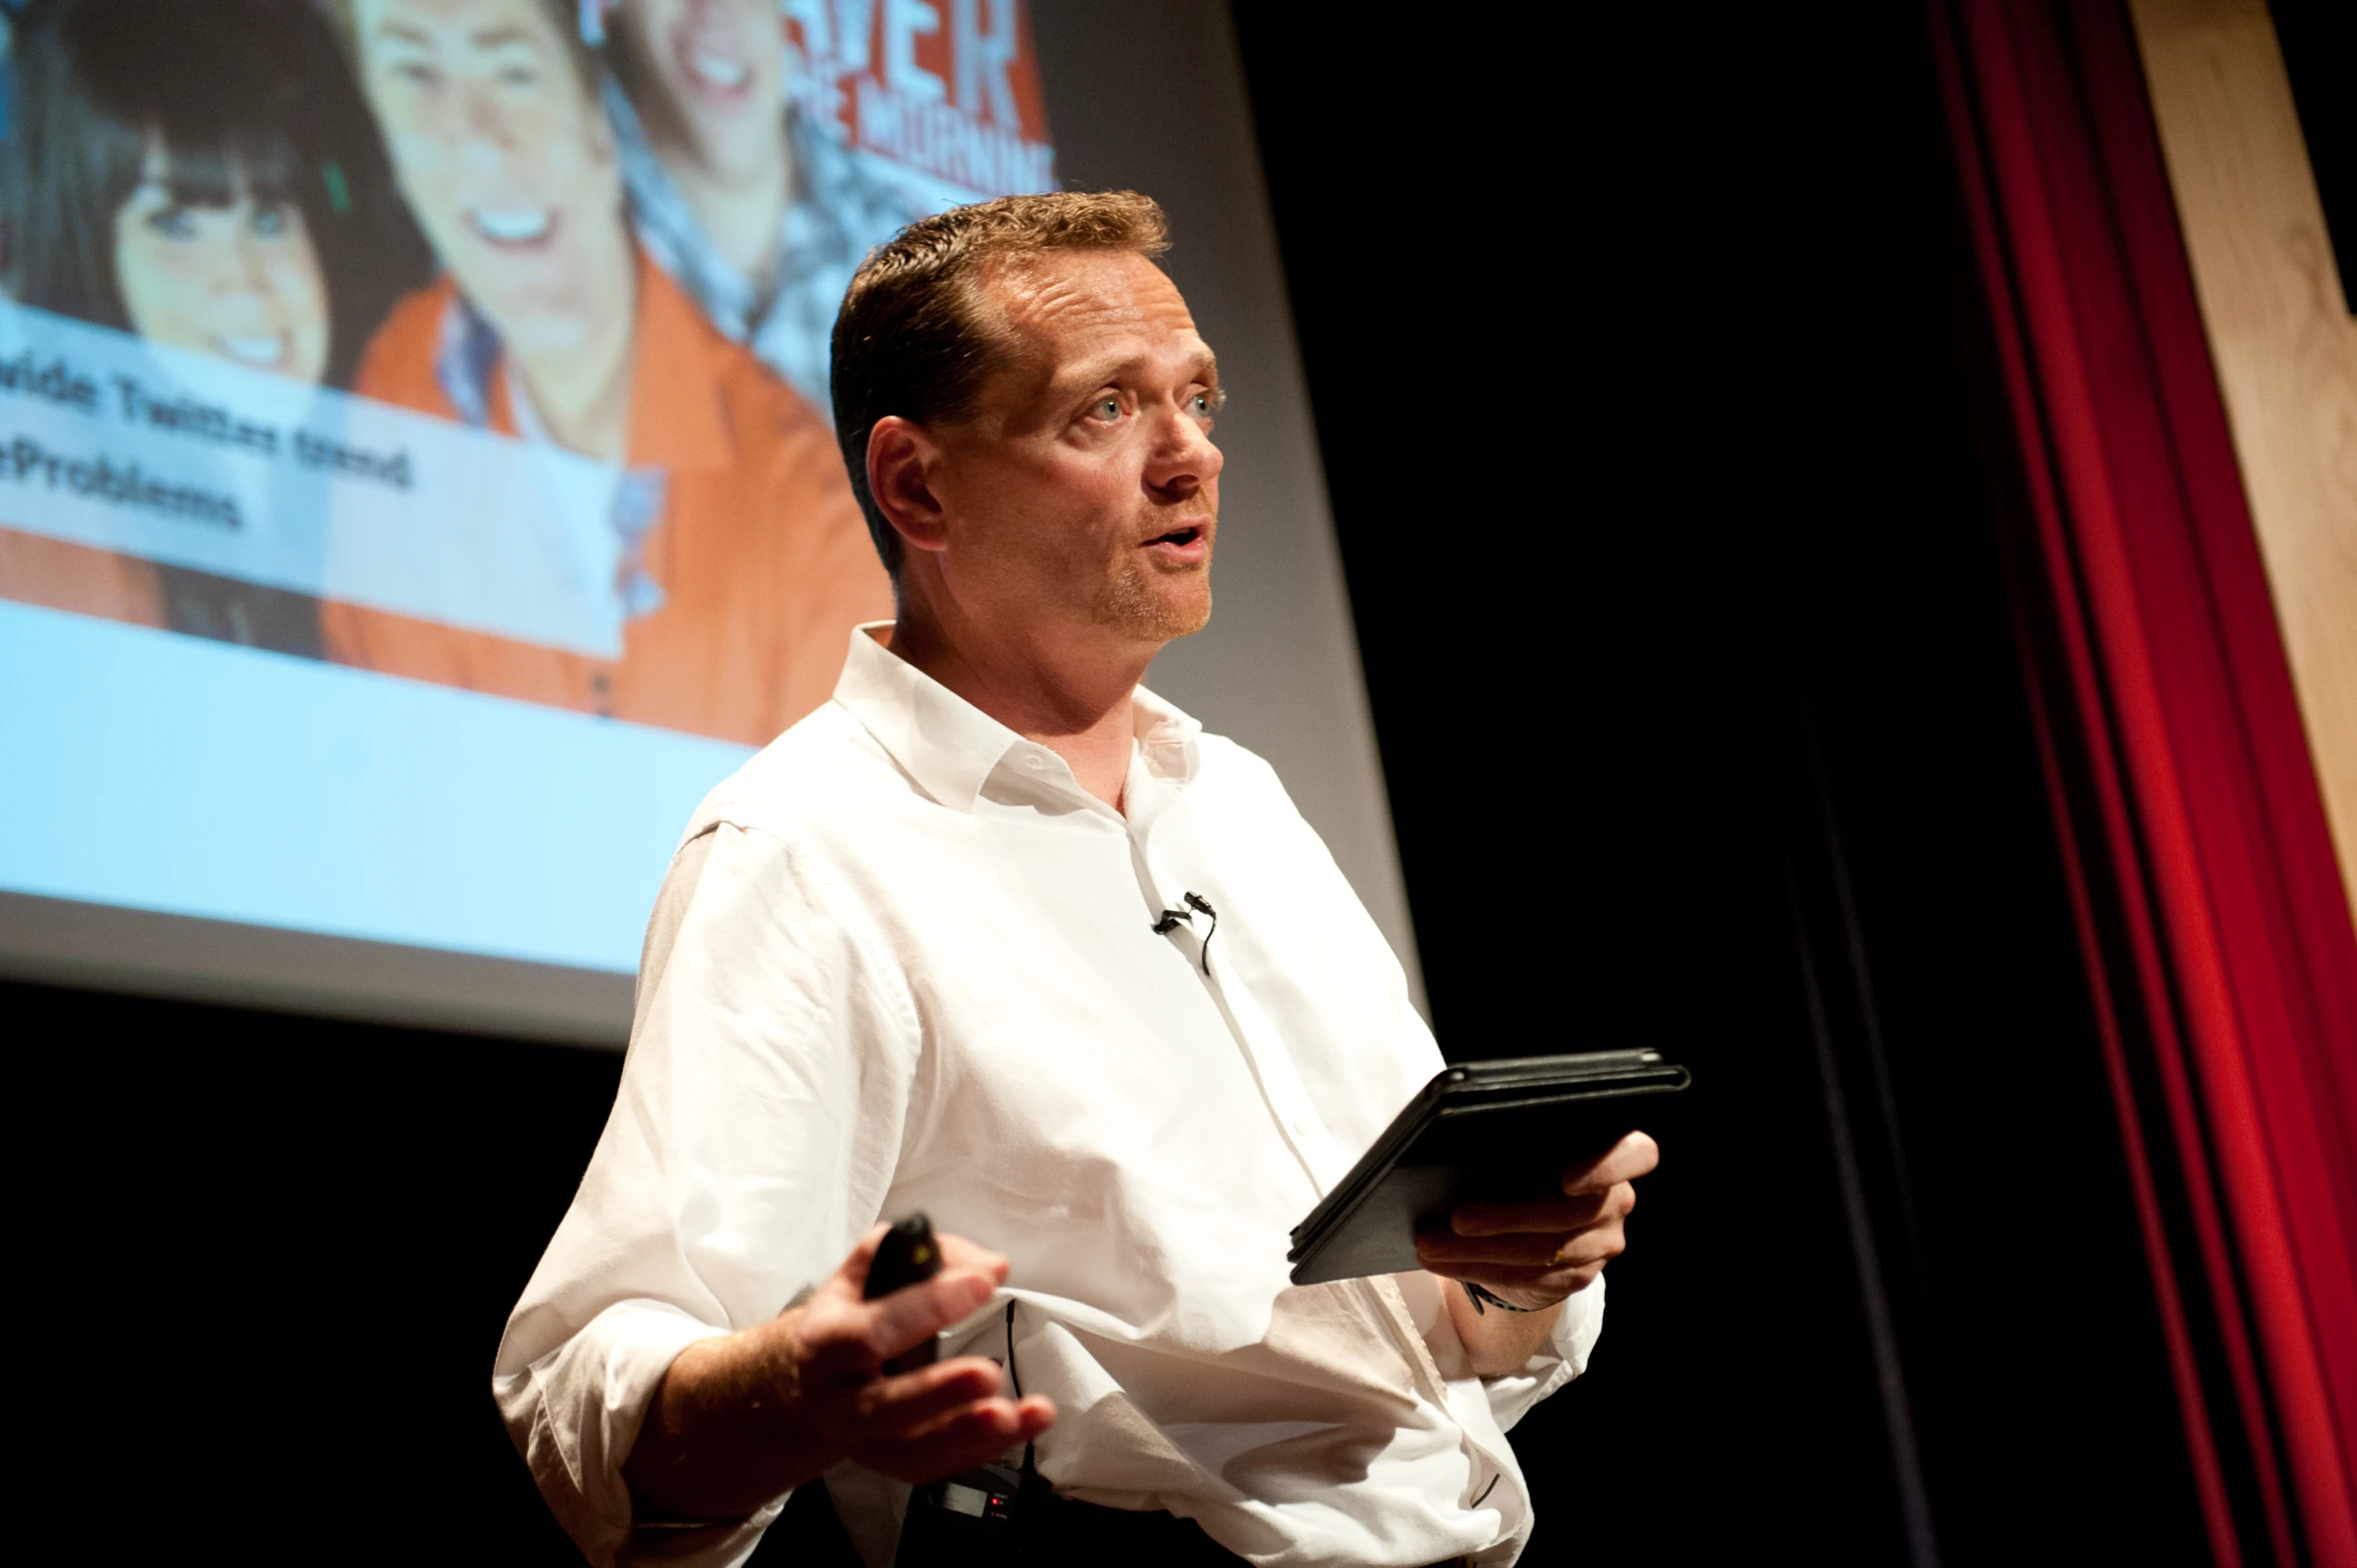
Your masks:
[{"label": "dark-haired woman with bangs on the projected slide, outside the caption band", "polygon": [[[304,5],[64,0],[16,21],[12,57],[12,299],[245,370],[349,381],[422,252],[403,245],[365,113]],[[302,593],[5,520],[0,598],[323,652]]]}]

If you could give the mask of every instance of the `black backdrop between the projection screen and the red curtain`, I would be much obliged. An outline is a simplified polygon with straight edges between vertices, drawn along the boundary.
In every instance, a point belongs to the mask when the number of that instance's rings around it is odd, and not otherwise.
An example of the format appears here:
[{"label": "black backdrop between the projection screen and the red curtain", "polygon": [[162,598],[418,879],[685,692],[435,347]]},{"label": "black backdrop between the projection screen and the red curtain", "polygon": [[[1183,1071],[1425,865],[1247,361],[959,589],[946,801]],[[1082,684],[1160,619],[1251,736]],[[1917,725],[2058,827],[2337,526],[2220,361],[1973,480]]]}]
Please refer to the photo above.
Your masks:
[{"label": "black backdrop between the projection screen and the red curtain", "polygon": [[1919,14],[1235,16],[1440,1041],[1697,1076],[1527,1561],[2201,1561]]}]

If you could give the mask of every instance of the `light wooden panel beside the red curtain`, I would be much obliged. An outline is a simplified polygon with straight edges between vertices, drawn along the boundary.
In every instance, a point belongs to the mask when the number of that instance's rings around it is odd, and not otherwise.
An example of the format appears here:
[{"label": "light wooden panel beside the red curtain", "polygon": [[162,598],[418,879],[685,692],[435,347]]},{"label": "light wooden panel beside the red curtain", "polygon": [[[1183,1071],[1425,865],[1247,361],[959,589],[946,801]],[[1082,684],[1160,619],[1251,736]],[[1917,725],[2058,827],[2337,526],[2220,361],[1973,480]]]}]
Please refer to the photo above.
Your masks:
[{"label": "light wooden panel beside the red curtain", "polygon": [[2263,0],[2131,0],[2300,718],[2357,909],[2357,318]]}]

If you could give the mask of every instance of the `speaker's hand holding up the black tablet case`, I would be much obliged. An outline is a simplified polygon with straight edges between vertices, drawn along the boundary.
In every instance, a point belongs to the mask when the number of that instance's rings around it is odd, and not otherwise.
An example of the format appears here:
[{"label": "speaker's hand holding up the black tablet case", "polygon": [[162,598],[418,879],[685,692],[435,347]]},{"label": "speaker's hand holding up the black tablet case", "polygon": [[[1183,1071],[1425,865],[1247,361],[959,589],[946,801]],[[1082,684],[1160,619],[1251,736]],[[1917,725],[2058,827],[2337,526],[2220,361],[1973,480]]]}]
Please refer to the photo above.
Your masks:
[{"label": "speaker's hand holding up the black tablet case", "polygon": [[1643,1132],[1612,1144],[1598,1161],[1563,1172],[1560,1198],[1520,1203],[1461,1203],[1447,1231],[1417,1236],[1417,1262],[1428,1274],[1471,1281],[1523,1314],[1480,1314],[1461,1290],[1450,1290],[1457,1337],[1483,1377],[1511,1373],[1556,1326],[1553,1307],[1586,1290],[1629,1245],[1636,1208],[1633,1182],[1662,1163]]}]

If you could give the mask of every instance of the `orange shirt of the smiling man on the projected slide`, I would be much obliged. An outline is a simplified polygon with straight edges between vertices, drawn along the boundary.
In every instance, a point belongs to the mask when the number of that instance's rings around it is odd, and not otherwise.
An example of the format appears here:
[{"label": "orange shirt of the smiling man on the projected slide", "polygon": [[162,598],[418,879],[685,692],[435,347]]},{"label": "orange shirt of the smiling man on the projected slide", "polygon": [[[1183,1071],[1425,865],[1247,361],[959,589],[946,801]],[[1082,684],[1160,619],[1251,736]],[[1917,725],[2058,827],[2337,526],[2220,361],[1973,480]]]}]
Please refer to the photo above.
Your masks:
[{"label": "orange shirt of the smiling man on the projected slide", "polygon": [[[403,299],[354,391],[457,419],[436,377],[453,308],[448,278]],[[500,367],[488,412],[490,428],[516,433]],[[321,610],[328,657],[766,744],[832,695],[851,629],[891,617],[891,579],[827,421],[643,257],[625,466],[665,471],[643,539],[662,603],[625,624],[618,662],[344,603]]]}]

